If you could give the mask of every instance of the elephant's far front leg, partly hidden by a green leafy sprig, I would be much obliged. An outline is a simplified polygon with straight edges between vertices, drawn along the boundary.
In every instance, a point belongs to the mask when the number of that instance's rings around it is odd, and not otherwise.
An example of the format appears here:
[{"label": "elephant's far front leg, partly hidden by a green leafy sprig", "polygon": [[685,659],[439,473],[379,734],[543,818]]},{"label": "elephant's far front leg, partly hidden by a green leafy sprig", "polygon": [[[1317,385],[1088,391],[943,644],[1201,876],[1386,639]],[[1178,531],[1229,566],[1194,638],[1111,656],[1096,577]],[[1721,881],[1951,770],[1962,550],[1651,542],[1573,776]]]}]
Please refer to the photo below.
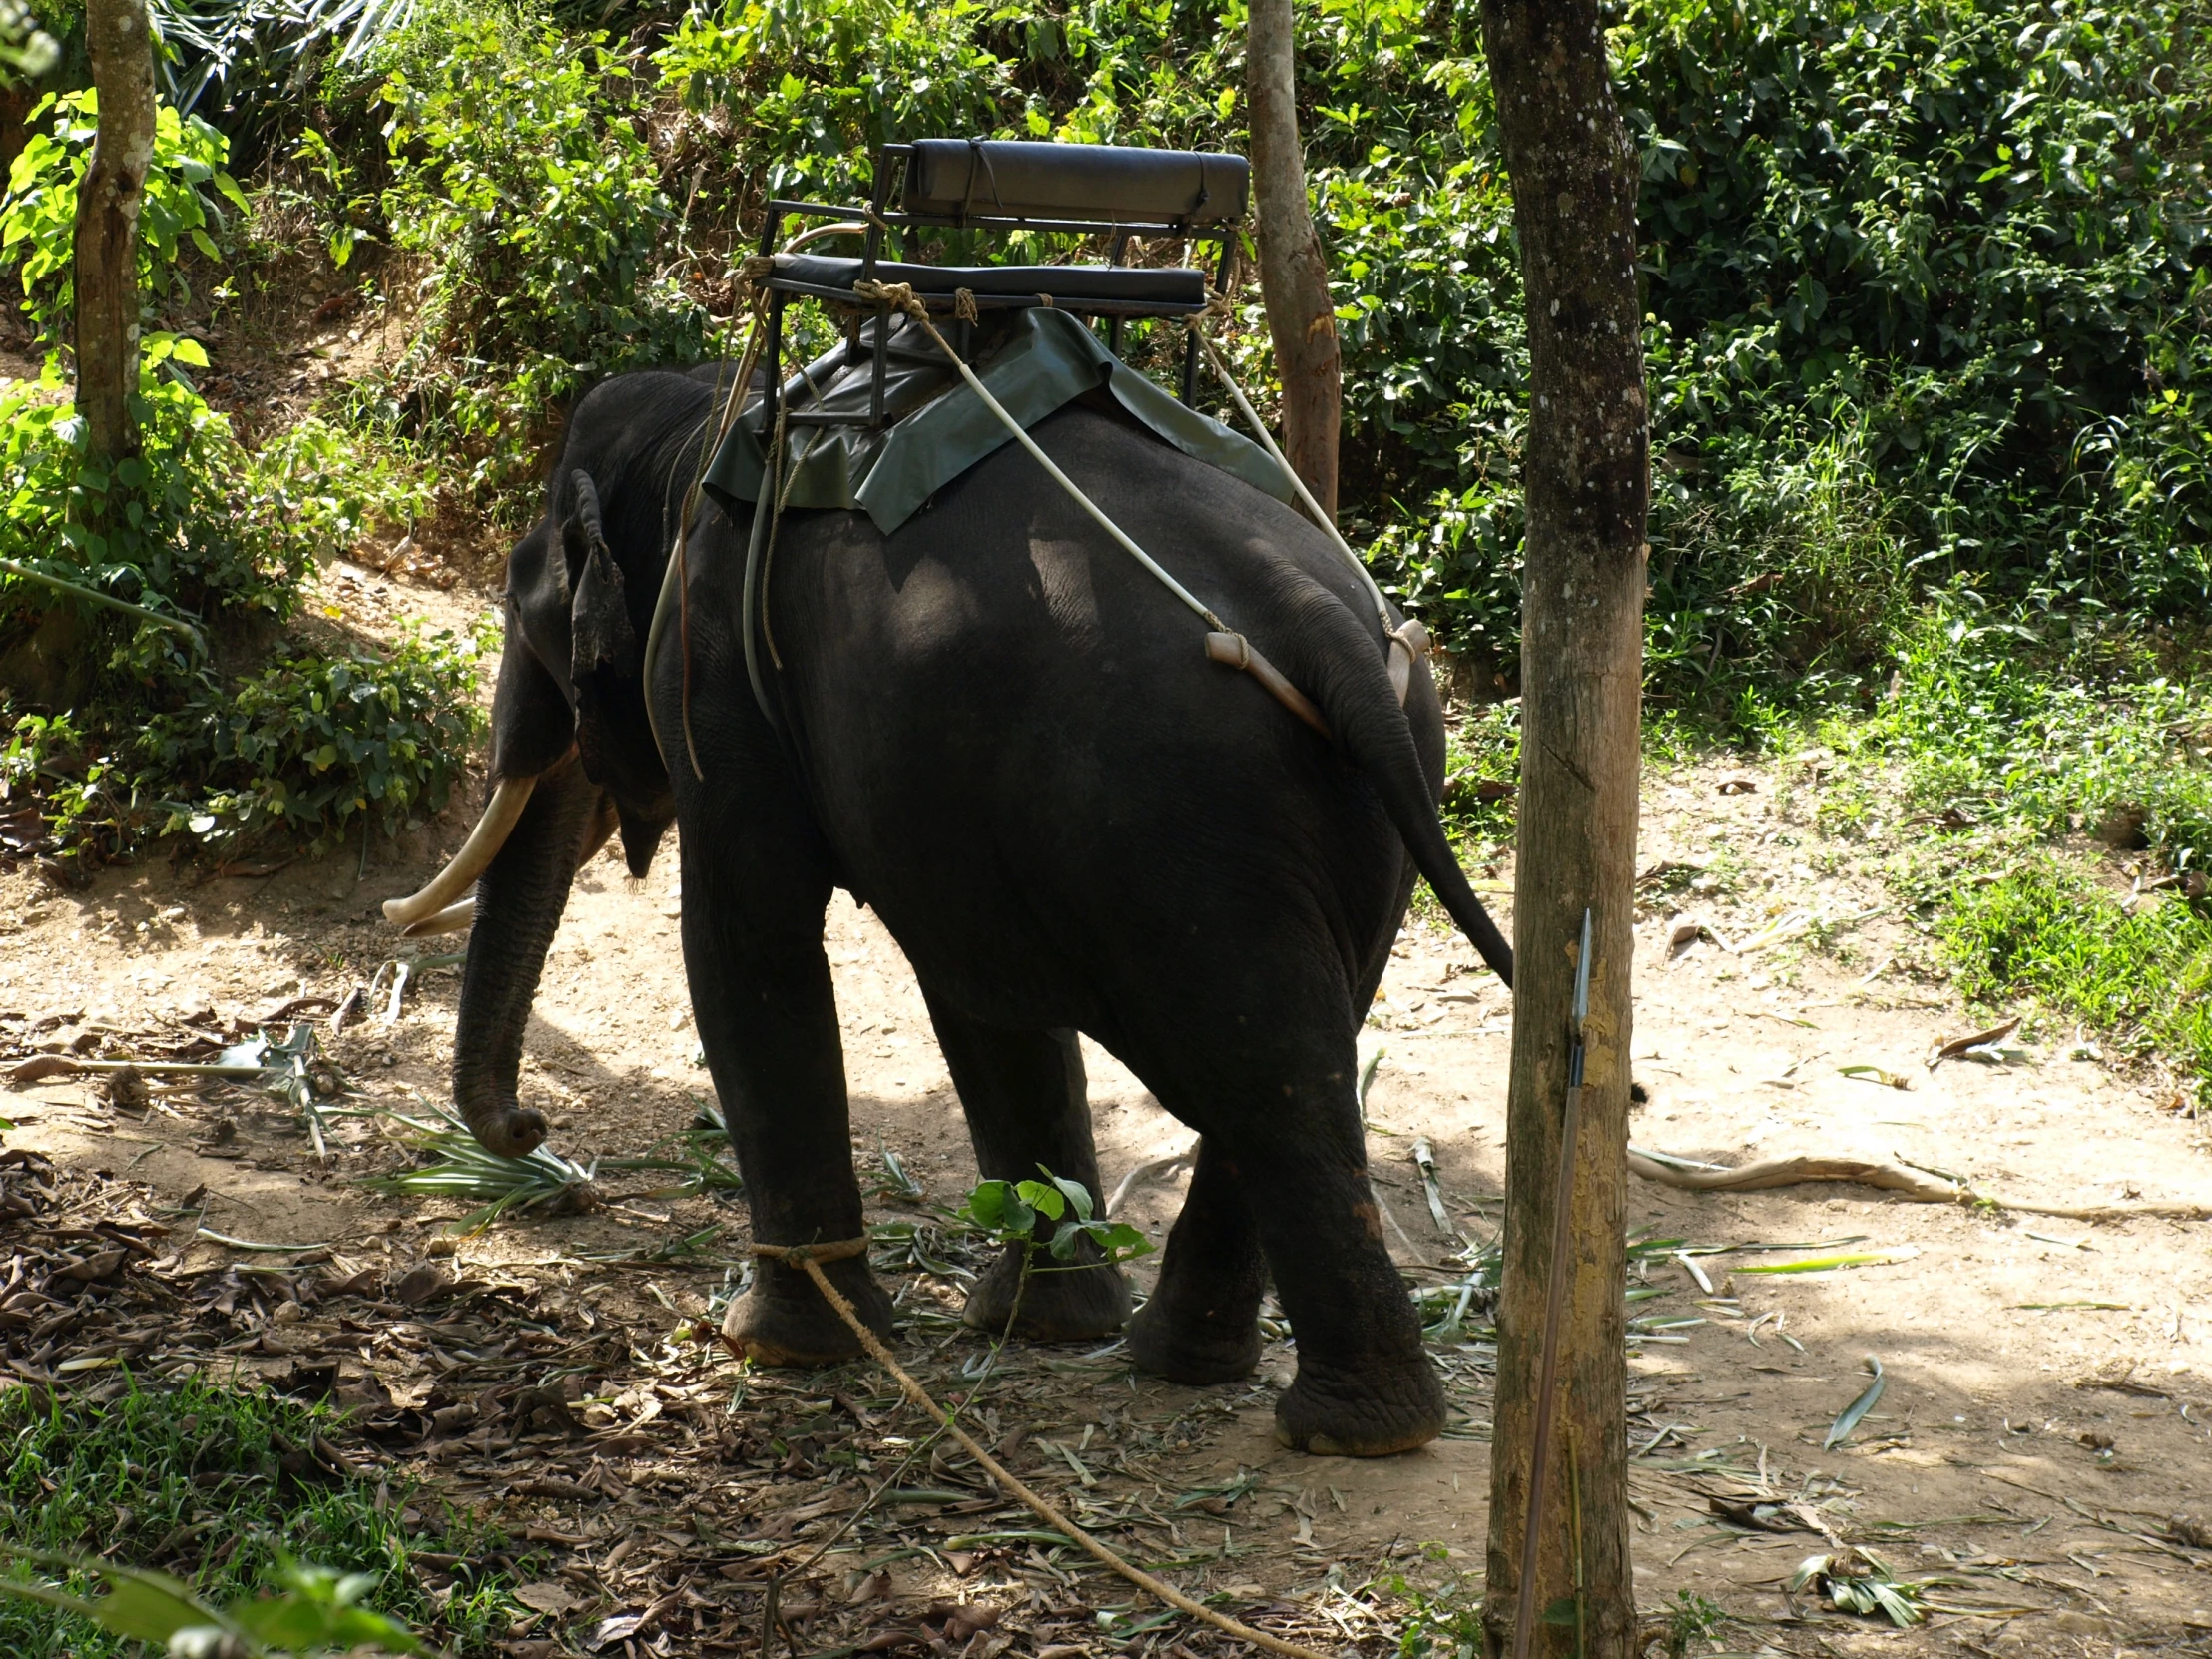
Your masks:
[{"label": "elephant's far front leg, partly hidden by a green leafy sprig", "polygon": [[[1082,1181],[1104,1203],[1075,1033],[987,1026],[956,1013],[927,987],[922,995],[984,1177],[1035,1181],[1040,1170],[1051,1170]],[[1051,1223],[1040,1223],[1040,1239],[1051,1239]],[[987,1332],[1006,1329],[1006,1318],[1015,1316],[1018,1336],[1073,1343],[1121,1329],[1128,1283],[1117,1267],[1099,1261],[1097,1245],[1082,1239],[1073,1267],[1040,1250],[1024,1287],[1022,1248],[1009,1245],[969,1292],[962,1316]]]}]

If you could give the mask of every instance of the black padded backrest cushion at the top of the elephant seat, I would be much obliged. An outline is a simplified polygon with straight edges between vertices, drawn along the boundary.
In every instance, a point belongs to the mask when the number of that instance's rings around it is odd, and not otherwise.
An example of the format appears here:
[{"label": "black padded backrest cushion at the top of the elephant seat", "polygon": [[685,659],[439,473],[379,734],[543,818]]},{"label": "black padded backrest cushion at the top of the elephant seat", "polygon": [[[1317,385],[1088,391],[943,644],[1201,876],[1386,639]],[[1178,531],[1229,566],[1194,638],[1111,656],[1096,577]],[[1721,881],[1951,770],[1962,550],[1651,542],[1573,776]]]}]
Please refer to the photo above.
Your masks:
[{"label": "black padded backrest cushion at the top of the elephant seat", "polygon": [[907,157],[907,212],[936,219],[1104,219],[1212,226],[1241,219],[1241,155],[1119,144],[920,139]]}]

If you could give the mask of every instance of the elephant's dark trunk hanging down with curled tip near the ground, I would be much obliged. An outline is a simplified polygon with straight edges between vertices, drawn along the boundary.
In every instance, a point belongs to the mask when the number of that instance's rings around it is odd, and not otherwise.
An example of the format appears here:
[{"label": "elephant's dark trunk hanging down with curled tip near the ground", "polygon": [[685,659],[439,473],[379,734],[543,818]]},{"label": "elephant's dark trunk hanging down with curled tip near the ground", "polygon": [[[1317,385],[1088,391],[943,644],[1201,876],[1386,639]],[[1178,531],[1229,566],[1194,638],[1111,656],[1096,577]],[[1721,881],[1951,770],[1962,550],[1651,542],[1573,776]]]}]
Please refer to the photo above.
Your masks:
[{"label": "elephant's dark trunk hanging down with curled tip near the ground", "polygon": [[515,1099],[522,1029],[568,885],[611,827],[613,801],[568,754],[538,776],[476,887],[453,1031],[453,1104],[476,1139],[504,1157],[522,1157],[546,1137],[544,1117]]}]

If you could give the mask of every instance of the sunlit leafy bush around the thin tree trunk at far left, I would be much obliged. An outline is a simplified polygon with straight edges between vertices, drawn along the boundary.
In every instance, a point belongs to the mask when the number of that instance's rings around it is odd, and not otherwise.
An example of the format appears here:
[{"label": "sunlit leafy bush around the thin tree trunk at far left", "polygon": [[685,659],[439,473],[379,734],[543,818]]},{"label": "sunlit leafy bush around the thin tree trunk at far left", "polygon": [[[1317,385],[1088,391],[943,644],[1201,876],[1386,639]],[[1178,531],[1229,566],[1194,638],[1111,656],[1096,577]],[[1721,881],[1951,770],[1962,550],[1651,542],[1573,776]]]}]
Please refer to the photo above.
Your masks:
[{"label": "sunlit leafy bush around the thin tree trunk at far left", "polygon": [[[91,106],[71,95],[40,108],[53,131],[13,168],[0,239],[22,261],[33,314],[58,334]],[[186,243],[217,252],[204,190],[241,199],[223,150],[204,122],[161,111],[142,248],[150,303],[175,296]],[[40,380],[0,389],[0,557],[126,608],[84,606],[73,650],[93,684],[66,714],[18,710],[0,754],[0,787],[42,801],[73,854],[122,856],[148,834],[234,847],[288,832],[321,847],[361,814],[389,834],[445,805],[482,730],[478,648],[442,635],[387,659],[294,657],[221,681],[210,635],[290,617],[316,555],[356,542],[372,518],[418,509],[422,484],[365,469],[319,420],[248,453],[186,378],[206,365],[186,336],[142,338],[139,451],[113,469],[86,456],[60,352]],[[13,573],[0,602],[18,637],[58,604],[51,586]]]}]

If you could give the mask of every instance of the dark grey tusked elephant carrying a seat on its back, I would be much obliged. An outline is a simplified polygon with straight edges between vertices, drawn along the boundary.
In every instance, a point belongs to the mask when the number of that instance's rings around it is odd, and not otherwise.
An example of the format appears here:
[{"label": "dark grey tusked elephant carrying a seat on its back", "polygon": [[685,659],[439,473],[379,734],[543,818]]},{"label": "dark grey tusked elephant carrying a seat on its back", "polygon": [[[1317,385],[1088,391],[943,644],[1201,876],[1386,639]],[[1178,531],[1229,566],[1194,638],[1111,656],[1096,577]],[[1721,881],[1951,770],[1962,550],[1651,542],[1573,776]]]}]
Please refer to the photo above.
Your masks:
[{"label": "dark grey tusked elephant carrying a seat on its back", "polygon": [[[447,872],[482,876],[453,1068],[478,1137],[515,1152],[544,1133],[513,1079],[582,849],[619,827],[641,869],[672,814],[695,1022],[759,1243],[865,1232],[823,949],[845,889],[920,980],[984,1177],[1046,1168],[1102,1190],[1077,1033],[1199,1133],[1135,1316],[1095,1256],[1024,1285],[1009,1248],[971,1325],[1002,1325],[1020,1294],[1018,1334],[1126,1323],[1141,1369],[1219,1383],[1254,1369],[1272,1279],[1298,1349],[1283,1444],[1385,1455],[1440,1433],[1367,1179],[1356,1037],[1416,874],[1509,982],[1511,951],[1438,821],[1442,706],[1425,664],[1400,706],[1398,619],[1316,524],[1086,398],[1031,436],[1325,732],[1210,657],[1194,617],[1013,445],[889,535],[860,513],[781,515],[765,703],[745,666],[750,515],[703,502],[648,717],[626,677],[712,392],[626,380],[577,409],[546,518],[515,549],[498,785],[482,843]],[[825,1272],[889,1336],[865,1252]],[[723,1338],[776,1365],[860,1352],[803,1270],[765,1256]]]}]

